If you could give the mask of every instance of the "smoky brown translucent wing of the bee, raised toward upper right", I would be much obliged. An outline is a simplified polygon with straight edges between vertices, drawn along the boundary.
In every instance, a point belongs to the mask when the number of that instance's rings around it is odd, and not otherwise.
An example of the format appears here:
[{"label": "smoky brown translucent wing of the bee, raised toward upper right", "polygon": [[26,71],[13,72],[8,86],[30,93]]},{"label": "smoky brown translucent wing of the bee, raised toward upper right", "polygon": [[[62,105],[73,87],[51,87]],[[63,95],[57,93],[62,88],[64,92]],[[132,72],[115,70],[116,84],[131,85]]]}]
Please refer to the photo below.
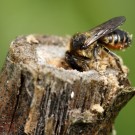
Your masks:
[{"label": "smoky brown translucent wing of the bee, raised toward upper right", "polygon": [[103,37],[104,35],[111,33],[118,26],[122,25],[125,22],[125,20],[126,18],[124,16],[115,17],[89,30],[90,37],[85,41],[84,46],[82,48],[87,48],[100,37]]}]

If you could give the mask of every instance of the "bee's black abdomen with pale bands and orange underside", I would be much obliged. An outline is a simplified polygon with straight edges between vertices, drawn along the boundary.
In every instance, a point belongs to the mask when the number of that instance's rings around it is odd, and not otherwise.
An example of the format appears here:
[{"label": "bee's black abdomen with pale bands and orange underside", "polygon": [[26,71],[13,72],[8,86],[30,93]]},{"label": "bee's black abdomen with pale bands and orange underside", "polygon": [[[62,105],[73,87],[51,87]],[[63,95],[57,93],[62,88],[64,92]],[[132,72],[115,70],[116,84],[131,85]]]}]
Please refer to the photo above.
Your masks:
[{"label": "bee's black abdomen with pale bands and orange underside", "polygon": [[132,40],[132,35],[130,35],[129,33],[123,30],[116,29],[110,34],[100,38],[98,42],[102,43],[108,48],[120,50],[120,49],[127,48],[131,43],[131,40]]}]

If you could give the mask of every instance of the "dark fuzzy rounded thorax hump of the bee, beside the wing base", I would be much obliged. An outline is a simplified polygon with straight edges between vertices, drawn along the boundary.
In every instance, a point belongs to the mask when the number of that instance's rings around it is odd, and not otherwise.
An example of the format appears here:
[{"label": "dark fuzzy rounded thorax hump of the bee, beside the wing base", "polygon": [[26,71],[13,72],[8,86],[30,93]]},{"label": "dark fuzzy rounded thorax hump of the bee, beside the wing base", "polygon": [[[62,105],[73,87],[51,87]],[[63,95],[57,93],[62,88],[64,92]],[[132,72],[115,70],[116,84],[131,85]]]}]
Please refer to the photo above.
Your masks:
[{"label": "dark fuzzy rounded thorax hump of the bee, beside the wing base", "polygon": [[70,49],[71,50],[82,49],[85,40],[86,40],[86,36],[84,34],[81,34],[81,33],[75,34],[70,41]]}]

